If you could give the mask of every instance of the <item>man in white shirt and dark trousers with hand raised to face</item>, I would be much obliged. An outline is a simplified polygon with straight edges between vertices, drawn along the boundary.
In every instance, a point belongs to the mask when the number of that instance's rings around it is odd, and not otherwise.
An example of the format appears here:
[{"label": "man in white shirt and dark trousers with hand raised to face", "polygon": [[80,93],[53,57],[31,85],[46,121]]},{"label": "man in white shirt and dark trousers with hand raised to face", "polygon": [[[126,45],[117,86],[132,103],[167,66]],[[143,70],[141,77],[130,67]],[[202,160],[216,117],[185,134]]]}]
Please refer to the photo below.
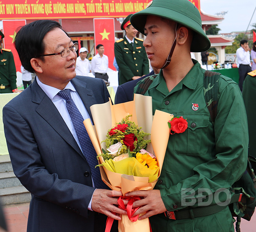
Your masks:
[{"label": "man in white shirt and dark trousers with hand raised to face", "polygon": [[236,50],[237,63],[239,64],[238,72],[239,72],[239,88],[241,92],[243,91],[243,81],[247,76],[248,72],[252,71],[251,68],[251,59],[249,53],[249,45],[247,40],[240,41],[239,49]]}]

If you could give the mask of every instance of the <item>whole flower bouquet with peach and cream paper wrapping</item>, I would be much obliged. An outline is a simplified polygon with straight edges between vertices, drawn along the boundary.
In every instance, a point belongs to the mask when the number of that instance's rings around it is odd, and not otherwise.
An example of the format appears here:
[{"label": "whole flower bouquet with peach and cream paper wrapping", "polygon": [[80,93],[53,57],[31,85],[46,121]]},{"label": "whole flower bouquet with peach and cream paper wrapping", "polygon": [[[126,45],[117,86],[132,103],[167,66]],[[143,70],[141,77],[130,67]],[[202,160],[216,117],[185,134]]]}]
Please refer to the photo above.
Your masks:
[{"label": "whole flower bouquet with peach and cream paper wrapping", "polygon": [[[95,128],[90,119],[84,121],[98,154],[102,181],[123,195],[151,190],[156,185],[169,140],[167,122],[173,118],[156,111],[153,119],[150,96],[135,94],[134,99],[117,105],[111,101],[93,105],[90,109]],[[138,221],[120,216],[119,232],[150,231],[148,218]]]}]

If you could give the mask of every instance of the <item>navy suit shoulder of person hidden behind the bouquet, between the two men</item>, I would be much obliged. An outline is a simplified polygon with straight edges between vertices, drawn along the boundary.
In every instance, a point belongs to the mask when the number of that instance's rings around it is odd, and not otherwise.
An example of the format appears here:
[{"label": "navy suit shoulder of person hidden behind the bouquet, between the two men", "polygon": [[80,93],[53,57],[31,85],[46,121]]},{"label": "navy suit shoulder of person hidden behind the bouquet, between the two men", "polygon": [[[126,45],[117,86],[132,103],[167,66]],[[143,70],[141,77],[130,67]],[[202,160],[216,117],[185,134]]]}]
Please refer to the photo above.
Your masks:
[{"label": "navy suit shoulder of person hidden behind the bouquet, between the two men", "polygon": [[117,92],[115,94],[115,104],[130,102],[133,99],[133,89],[137,85],[137,83],[144,79],[145,77],[154,75],[154,70],[152,70],[149,74],[140,77],[139,79],[128,81],[122,85],[117,87]]}]

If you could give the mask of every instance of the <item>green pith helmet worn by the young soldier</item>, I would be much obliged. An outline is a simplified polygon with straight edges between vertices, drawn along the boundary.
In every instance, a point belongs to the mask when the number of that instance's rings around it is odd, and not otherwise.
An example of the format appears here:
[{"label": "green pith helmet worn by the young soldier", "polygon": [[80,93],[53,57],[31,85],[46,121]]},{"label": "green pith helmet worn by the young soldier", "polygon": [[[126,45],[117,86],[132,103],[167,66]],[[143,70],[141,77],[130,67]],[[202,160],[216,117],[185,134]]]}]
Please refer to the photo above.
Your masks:
[{"label": "green pith helmet worn by the young soldier", "polygon": [[207,51],[210,40],[202,29],[202,20],[196,6],[188,0],[153,0],[147,8],[131,16],[130,22],[139,32],[144,34],[148,15],[171,19],[193,30],[192,52]]}]

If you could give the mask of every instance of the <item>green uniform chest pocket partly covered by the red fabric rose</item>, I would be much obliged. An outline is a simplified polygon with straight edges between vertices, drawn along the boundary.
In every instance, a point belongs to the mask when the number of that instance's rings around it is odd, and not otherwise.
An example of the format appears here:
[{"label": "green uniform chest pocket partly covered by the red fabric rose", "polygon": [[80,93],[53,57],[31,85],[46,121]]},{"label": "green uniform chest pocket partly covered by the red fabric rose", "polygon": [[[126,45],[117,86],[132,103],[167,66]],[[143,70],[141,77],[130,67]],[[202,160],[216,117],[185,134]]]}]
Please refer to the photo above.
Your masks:
[{"label": "green uniform chest pocket partly covered by the red fabric rose", "polygon": [[209,149],[209,115],[194,113],[180,116],[187,119],[188,128],[182,134],[170,135],[175,140],[174,152],[177,155],[205,155]]}]

